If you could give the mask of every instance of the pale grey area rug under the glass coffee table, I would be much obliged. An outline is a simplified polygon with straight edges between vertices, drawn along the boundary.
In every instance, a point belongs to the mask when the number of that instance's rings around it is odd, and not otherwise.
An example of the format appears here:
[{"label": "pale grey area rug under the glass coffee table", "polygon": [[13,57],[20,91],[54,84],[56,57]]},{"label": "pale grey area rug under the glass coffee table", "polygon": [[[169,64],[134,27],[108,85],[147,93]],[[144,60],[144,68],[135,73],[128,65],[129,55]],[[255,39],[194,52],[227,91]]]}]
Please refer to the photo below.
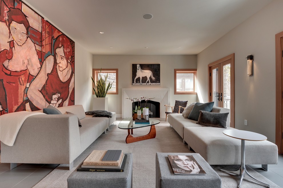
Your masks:
[{"label": "pale grey area rug under the glass coffee table", "polygon": [[[127,130],[118,128],[119,121],[115,121],[110,126],[106,134],[95,140],[75,161],[74,168],[68,170],[68,165],[59,165],[49,175],[42,179],[34,188],[59,188],[67,187],[67,178],[76,169],[76,167],[93,151],[93,150],[117,150],[121,149],[125,153],[133,154],[133,188],[154,188],[155,187],[155,155],[156,152],[176,152],[190,153],[188,146],[183,144],[179,134],[169,126],[168,122],[160,118],[160,124],[156,125],[156,138],[125,143]],[[150,127],[138,128],[133,130],[133,136],[142,136],[148,134]],[[236,169],[237,165],[223,165],[224,169]],[[220,165],[214,165],[213,168],[222,179],[222,188],[238,187],[239,177],[219,171]],[[246,167],[251,175],[260,181],[270,184],[270,187],[278,187],[273,182],[266,179],[250,167]],[[242,187],[259,188],[264,187],[250,180],[244,180]]]}]

